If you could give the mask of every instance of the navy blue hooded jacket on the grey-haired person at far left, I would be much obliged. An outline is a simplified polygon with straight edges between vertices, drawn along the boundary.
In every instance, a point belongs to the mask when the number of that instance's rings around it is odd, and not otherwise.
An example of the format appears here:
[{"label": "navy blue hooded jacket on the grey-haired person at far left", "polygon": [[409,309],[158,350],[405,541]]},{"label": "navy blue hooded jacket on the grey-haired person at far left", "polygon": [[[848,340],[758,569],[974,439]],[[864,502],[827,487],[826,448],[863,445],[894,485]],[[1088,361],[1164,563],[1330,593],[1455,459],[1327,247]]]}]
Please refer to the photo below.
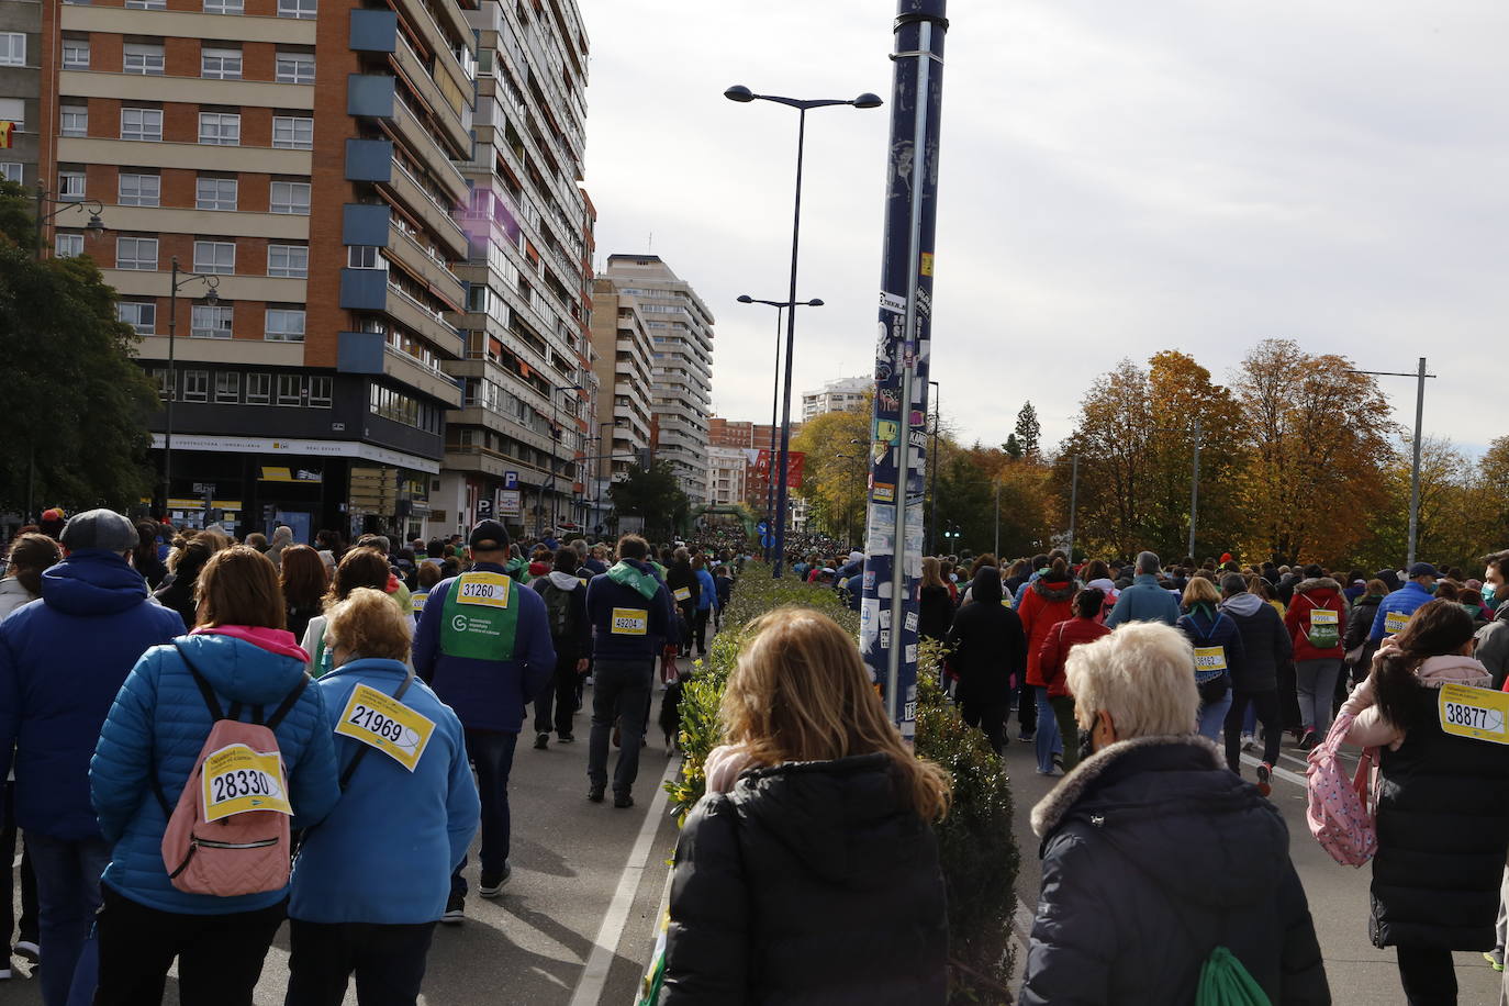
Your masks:
[{"label": "navy blue hooded jacket on the grey-haired person at far left", "polygon": [[89,756],[142,653],[184,630],[115,552],[81,549],[42,573],[42,603],[0,624],[0,778],[15,748],[15,820],[54,839],[100,837]]}]

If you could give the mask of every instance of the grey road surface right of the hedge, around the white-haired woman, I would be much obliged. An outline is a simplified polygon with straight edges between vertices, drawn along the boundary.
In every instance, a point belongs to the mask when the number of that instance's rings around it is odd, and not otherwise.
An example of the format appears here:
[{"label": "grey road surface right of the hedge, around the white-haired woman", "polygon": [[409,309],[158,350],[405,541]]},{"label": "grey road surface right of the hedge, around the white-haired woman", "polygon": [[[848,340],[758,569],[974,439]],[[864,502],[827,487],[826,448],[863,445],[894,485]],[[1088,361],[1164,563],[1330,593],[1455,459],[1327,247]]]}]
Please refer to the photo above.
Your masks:
[{"label": "grey road surface right of the hedge, around the white-haired woman", "polygon": [[[1034,804],[1047,795],[1058,778],[1037,774],[1032,745],[1014,739],[1016,722],[1011,724],[1010,733],[1013,741],[1007,751],[1007,768],[1013,780],[1014,830],[1022,851],[1022,872],[1017,875],[1017,897],[1022,903],[1019,919],[1025,919],[1031,926],[1041,872],[1038,840],[1032,834],[1029,814]],[[1367,938],[1367,885],[1372,867],[1364,866],[1358,870],[1338,866],[1310,837],[1305,827],[1304,759],[1286,744],[1280,762],[1281,771],[1275,774],[1271,799],[1289,824],[1289,852],[1310,899],[1332,1001],[1337,1006],[1402,1003],[1403,992],[1393,950],[1378,950]],[[1255,760],[1243,766],[1243,777],[1248,781],[1254,780],[1254,768]],[[1488,967],[1482,955],[1456,955],[1461,1006],[1497,1006],[1500,979],[1501,976]]]}]

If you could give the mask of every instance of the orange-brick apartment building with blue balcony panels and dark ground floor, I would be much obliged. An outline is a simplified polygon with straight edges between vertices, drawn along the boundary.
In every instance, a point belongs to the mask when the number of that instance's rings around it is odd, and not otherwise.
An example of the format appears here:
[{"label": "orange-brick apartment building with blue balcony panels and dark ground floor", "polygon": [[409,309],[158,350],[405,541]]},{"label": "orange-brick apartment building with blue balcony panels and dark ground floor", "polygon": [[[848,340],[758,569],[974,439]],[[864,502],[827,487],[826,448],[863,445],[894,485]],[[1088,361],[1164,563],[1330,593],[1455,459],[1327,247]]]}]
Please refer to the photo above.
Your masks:
[{"label": "orange-brick apartment building with blue balcony panels and dark ground floor", "polygon": [[[462,401],[462,3],[62,3],[39,65],[42,176],[109,228],[63,214],[47,244],[100,262],[174,397],[175,517],[208,495],[237,534],[423,532]],[[181,284],[169,371],[174,261],[211,281]]]}]

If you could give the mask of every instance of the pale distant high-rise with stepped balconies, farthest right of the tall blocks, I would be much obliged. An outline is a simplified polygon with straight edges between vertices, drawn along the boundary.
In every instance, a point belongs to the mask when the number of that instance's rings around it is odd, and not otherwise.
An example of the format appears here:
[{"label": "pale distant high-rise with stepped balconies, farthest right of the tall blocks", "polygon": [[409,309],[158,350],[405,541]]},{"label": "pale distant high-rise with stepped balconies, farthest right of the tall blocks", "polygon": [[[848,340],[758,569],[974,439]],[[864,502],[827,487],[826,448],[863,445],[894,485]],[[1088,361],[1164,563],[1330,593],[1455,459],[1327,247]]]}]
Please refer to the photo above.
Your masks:
[{"label": "pale distant high-rise with stepped balconies, farthest right of the tall blocks", "polygon": [[610,255],[604,275],[638,300],[649,327],[655,460],[670,462],[693,502],[706,499],[712,312],[658,255]]}]

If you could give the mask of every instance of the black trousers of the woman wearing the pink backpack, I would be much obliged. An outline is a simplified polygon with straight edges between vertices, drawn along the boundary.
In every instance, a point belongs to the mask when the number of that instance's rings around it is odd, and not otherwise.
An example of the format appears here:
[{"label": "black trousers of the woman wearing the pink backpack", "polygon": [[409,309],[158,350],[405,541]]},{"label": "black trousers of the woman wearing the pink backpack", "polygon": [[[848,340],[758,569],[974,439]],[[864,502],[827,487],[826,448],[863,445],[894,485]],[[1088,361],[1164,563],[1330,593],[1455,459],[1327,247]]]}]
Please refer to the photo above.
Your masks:
[{"label": "black trousers of the woman wearing the pink backpack", "polygon": [[100,986],[94,1006],[160,1006],[174,958],[178,958],[178,1001],[252,1006],[263,959],[282,925],[288,899],[260,911],[184,916],[133,902],[109,884],[101,884],[101,894],[104,900],[95,917]]}]

